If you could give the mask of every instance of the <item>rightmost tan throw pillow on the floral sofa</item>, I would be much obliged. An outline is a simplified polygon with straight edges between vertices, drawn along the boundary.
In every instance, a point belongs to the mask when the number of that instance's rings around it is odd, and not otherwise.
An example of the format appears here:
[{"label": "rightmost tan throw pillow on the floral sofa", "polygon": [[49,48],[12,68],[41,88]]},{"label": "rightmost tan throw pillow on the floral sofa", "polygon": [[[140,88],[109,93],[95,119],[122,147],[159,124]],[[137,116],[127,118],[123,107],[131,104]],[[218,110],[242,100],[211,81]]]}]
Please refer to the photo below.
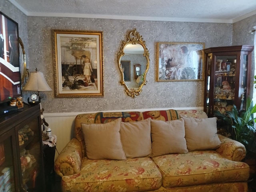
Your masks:
[{"label": "rightmost tan throw pillow on the floral sofa", "polygon": [[217,118],[182,117],[185,122],[185,139],[189,151],[210,150],[220,146]]}]

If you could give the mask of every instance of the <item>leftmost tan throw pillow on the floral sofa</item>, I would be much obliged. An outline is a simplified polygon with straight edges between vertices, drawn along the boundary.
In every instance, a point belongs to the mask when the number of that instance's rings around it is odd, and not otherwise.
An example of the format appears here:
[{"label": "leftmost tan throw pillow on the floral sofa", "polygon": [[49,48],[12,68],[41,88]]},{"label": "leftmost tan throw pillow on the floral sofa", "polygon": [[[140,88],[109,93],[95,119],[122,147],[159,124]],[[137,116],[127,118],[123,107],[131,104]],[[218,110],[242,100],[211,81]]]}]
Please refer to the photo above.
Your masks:
[{"label": "leftmost tan throw pillow on the floral sofa", "polygon": [[81,123],[86,155],[90,159],[125,160],[120,140],[121,118],[105,124]]}]

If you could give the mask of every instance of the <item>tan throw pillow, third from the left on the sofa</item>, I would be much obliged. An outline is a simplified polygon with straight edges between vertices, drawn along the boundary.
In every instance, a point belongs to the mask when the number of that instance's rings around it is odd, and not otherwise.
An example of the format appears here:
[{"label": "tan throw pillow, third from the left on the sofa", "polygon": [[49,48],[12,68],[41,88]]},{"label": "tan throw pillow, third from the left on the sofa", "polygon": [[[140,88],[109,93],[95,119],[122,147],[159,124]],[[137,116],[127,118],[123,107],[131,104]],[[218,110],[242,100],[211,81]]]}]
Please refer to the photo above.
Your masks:
[{"label": "tan throw pillow, third from the left on the sofa", "polygon": [[187,153],[184,120],[151,120],[152,157]]}]

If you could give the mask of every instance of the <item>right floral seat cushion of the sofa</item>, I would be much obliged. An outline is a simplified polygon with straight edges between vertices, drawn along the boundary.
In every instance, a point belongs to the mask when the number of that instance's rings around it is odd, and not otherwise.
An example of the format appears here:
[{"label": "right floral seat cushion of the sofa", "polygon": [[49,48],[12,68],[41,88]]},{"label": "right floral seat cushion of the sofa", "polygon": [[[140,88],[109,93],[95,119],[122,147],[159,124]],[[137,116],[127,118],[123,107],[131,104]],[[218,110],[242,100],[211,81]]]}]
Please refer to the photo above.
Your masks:
[{"label": "right floral seat cushion of the sofa", "polygon": [[153,158],[162,172],[165,188],[245,181],[249,166],[223,158],[213,150],[167,154]]}]

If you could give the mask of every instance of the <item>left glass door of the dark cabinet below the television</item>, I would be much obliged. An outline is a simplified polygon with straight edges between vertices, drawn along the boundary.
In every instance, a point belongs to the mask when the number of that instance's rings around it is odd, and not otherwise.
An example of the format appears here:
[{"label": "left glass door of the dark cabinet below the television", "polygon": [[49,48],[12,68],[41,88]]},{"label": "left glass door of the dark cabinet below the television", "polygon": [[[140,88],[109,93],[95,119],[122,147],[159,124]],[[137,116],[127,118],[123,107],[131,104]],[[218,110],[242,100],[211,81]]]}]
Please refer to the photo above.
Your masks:
[{"label": "left glass door of the dark cabinet below the television", "polygon": [[17,156],[14,149],[15,132],[11,130],[0,136],[0,191],[18,191]]}]

